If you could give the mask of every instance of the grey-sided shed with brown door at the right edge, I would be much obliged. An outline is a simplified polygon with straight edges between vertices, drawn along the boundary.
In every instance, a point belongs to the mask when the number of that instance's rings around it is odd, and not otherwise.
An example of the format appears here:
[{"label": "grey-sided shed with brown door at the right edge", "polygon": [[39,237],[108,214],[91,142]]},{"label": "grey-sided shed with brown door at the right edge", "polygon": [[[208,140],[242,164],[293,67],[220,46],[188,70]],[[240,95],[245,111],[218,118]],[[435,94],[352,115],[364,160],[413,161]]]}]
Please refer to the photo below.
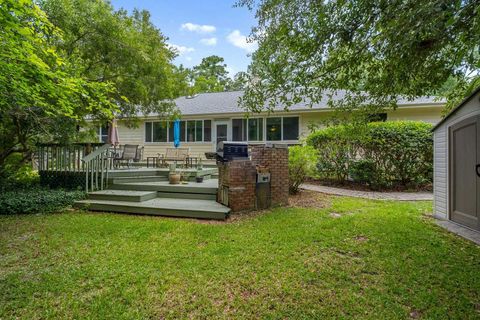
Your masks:
[{"label": "grey-sided shed with brown door at the right edge", "polygon": [[434,215],[480,231],[480,87],[433,129]]}]

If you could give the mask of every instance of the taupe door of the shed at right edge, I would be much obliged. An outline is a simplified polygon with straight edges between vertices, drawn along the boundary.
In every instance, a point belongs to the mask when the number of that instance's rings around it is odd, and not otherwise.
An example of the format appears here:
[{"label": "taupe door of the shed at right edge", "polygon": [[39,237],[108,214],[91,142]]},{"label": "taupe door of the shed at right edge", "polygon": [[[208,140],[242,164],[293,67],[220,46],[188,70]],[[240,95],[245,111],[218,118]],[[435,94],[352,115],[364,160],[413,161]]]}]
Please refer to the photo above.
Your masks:
[{"label": "taupe door of the shed at right edge", "polygon": [[452,126],[449,140],[450,219],[480,230],[480,117]]}]

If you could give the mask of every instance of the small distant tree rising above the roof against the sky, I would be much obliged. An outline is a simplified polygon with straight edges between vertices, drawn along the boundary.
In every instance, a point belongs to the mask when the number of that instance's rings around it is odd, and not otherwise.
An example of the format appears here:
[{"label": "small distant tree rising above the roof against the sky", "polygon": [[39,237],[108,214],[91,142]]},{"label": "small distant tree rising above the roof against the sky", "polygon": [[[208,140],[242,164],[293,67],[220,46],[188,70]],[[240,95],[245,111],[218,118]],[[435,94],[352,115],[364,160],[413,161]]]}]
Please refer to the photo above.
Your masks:
[{"label": "small distant tree rising above the roof against the sky", "polygon": [[191,78],[193,82],[192,93],[221,92],[229,80],[227,65],[219,56],[209,56],[193,67]]}]

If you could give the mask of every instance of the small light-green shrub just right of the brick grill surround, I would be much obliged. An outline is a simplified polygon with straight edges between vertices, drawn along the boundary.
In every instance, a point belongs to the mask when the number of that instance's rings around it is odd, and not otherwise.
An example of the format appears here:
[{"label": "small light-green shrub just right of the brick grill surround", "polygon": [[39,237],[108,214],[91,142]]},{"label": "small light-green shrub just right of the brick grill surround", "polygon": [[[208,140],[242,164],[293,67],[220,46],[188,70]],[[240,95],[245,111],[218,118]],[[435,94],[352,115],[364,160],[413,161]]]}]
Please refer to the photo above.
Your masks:
[{"label": "small light-green shrub just right of the brick grill surround", "polygon": [[296,194],[306,178],[315,172],[317,151],[311,146],[288,148],[288,184],[291,194]]}]

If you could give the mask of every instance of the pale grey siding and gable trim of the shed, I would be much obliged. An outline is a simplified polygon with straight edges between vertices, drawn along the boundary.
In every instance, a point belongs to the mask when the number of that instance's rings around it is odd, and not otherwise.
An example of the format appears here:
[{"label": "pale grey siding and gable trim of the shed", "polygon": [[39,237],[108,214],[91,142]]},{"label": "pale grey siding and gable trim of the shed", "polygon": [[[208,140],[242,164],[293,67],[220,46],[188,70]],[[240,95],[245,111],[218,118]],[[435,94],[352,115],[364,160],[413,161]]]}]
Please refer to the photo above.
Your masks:
[{"label": "pale grey siding and gable trim of the shed", "polygon": [[480,93],[473,96],[465,105],[457,110],[434,132],[433,158],[433,193],[434,215],[440,219],[448,219],[448,132],[449,127],[459,121],[480,114]]}]

